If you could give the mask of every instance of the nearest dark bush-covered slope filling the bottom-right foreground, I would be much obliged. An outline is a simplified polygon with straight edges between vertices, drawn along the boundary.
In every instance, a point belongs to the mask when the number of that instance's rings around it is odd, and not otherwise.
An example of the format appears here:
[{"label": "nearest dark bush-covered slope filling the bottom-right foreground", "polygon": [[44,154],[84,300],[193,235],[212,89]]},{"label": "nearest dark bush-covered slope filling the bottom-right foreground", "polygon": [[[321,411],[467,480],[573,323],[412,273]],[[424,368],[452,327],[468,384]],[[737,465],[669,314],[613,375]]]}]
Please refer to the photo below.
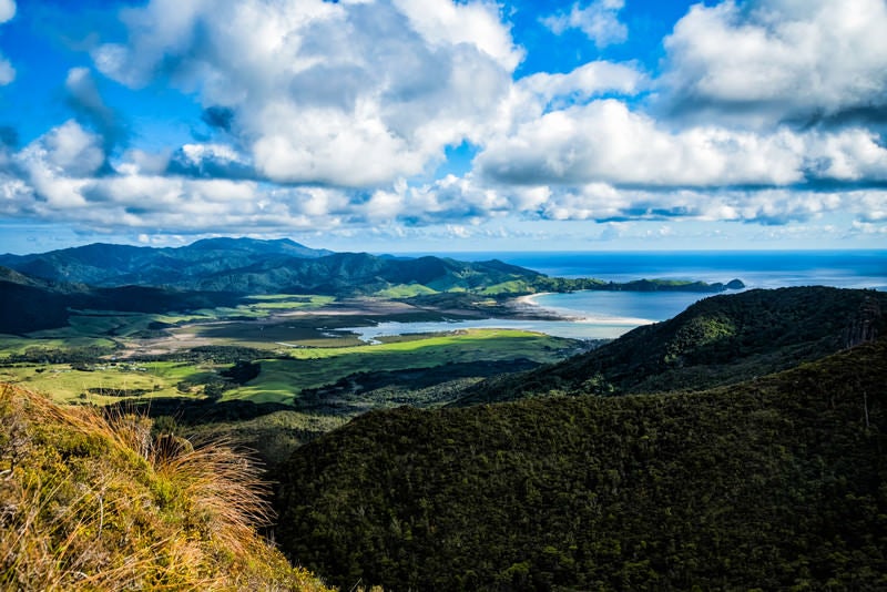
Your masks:
[{"label": "nearest dark bush-covered slope filling the bottom-right foreground", "polygon": [[885,590],[887,340],[694,394],[371,412],[277,540],[343,589]]}]

